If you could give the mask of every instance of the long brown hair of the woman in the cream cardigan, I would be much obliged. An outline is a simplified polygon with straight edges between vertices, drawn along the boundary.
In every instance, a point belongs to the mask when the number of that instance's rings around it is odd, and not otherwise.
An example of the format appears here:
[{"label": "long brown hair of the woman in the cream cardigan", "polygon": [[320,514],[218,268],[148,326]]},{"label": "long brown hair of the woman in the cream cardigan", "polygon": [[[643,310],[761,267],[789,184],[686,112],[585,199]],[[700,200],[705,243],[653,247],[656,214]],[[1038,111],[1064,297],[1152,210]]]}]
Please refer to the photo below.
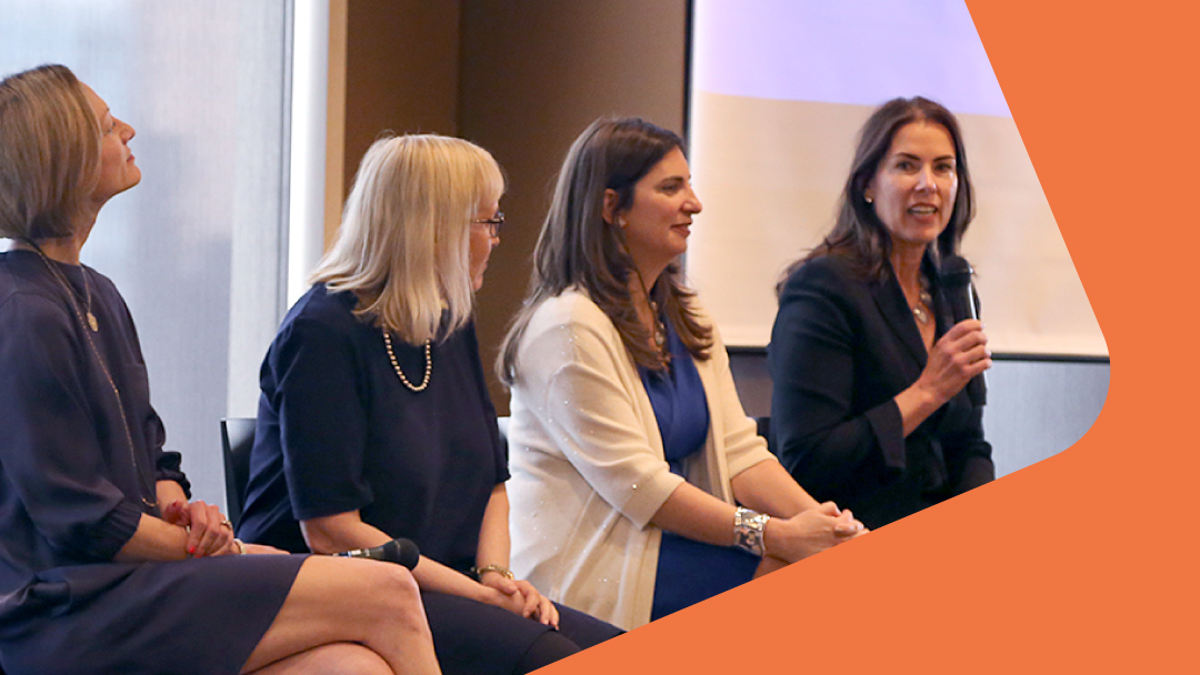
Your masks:
[{"label": "long brown hair of the woman in the cream cardigan", "polygon": [[[677,147],[684,149],[679,135],[637,117],[596,120],[571,145],[538,237],[529,290],[500,346],[497,370],[505,384],[516,381],[517,348],[534,312],[571,288],[584,291],[608,315],[635,363],[666,368],[666,357],[650,346],[652,336],[637,319],[629,291],[634,260],[624,230],[604,219],[604,195],[614,191],[613,211],[629,210],[637,181]],[[692,357],[707,360],[713,330],[697,318],[691,306],[695,293],[684,285],[678,261],[667,266],[649,294]]]}]

